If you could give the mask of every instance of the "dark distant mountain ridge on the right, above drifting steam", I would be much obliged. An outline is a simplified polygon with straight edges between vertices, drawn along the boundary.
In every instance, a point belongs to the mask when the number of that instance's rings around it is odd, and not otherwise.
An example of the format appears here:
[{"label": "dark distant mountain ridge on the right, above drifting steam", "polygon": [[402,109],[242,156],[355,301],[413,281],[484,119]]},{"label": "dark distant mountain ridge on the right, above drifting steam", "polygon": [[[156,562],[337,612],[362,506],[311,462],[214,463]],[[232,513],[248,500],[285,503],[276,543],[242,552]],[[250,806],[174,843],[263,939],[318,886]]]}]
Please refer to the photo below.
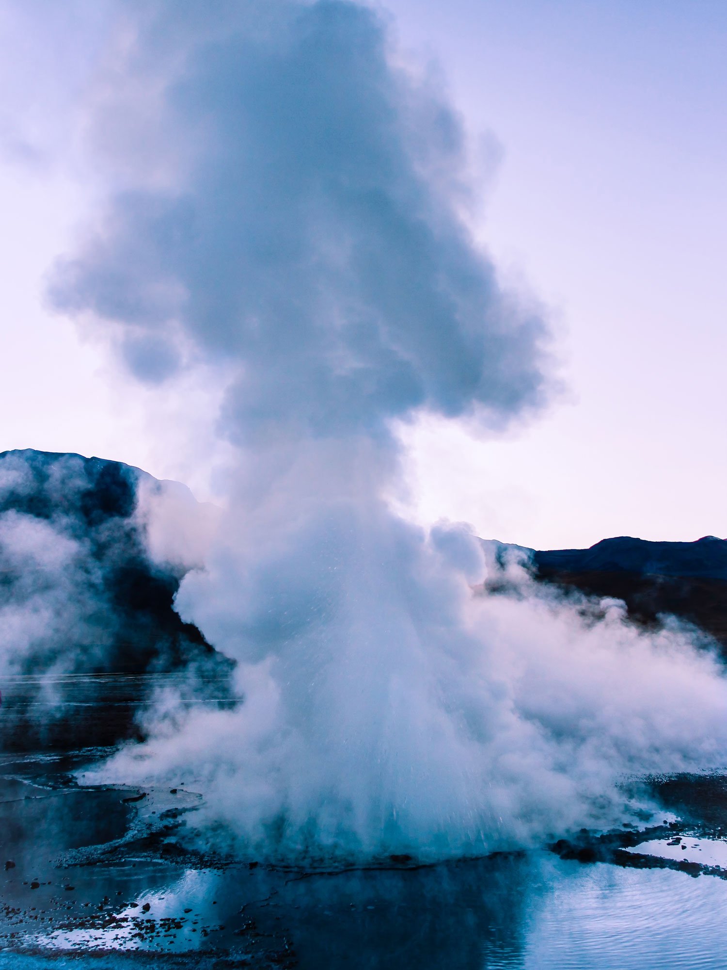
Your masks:
[{"label": "dark distant mountain ridge on the right, above drifting steam", "polygon": [[696,542],[650,542],[621,535],[589,549],[509,548],[520,550],[541,582],[622,599],[631,619],[647,627],[677,616],[713,636],[727,658],[727,540],[705,535]]}]

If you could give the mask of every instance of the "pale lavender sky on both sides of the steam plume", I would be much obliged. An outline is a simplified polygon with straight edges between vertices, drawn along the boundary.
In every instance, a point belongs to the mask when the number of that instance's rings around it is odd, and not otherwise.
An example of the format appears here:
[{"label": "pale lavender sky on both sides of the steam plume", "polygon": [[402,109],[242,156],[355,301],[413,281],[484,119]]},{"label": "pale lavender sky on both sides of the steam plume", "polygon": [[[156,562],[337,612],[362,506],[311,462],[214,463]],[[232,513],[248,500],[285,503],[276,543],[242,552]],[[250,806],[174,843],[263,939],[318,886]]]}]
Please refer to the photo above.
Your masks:
[{"label": "pale lavender sky on both sides of the steam plume", "polygon": [[[0,4],[0,448],[115,458],[206,498],[218,456],[204,389],[169,402],[132,388],[44,296],[98,205],[73,118],[109,9]],[[462,115],[474,230],[502,275],[548,307],[563,385],[504,436],[441,419],[407,429],[411,514],[536,548],[727,535],[727,8],[380,9],[398,56],[432,63]]]}]

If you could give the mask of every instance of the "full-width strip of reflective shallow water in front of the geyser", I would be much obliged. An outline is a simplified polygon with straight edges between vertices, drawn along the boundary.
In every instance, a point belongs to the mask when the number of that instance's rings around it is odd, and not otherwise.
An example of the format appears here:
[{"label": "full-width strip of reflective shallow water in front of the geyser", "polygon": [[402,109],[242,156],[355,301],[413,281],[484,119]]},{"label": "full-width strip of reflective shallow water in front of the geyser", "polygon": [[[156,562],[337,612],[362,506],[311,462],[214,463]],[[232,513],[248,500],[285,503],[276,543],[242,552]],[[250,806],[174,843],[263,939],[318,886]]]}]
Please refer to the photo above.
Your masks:
[{"label": "full-width strip of reflective shallow water in front of the geyser", "polygon": [[[548,855],[337,875],[246,866],[152,872],[137,863],[133,875],[109,870],[99,883],[94,868],[74,877],[77,893],[113,898],[122,887],[126,899],[115,919],[27,934],[23,949],[33,948],[33,967],[57,967],[64,951],[77,958],[95,952],[99,970],[146,965],[146,954],[157,954],[156,965],[164,965],[162,954],[195,967],[224,954],[236,966],[300,970],[727,965],[727,884],[671,870]],[[92,888],[83,882],[89,876]],[[99,954],[114,950],[117,956]],[[0,970],[16,966],[6,959],[0,954]]]}]

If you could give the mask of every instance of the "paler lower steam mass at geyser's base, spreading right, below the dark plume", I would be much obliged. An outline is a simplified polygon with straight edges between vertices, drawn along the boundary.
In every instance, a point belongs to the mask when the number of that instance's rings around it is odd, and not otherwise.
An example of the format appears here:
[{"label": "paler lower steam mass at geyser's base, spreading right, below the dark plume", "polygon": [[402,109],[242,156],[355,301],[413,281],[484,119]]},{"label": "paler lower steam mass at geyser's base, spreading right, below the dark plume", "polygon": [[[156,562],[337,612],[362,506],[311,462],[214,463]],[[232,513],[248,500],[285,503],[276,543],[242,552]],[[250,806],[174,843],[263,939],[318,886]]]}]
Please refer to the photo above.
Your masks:
[{"label": "paler lower steam mass at geyser's base, spreading right, below the dark plume", "polygon": [[353,475],[314,495],[311,462],[237,497],[177,598],[244,702],[104,777],[199,782],[206,821],[256,856],[436,858],[615,824],[628,777],[725,763],[727,681],[686,632],[612,601],[596,621],[517,565],[518,596],[488,595],[466,529],[424,533]]}]

